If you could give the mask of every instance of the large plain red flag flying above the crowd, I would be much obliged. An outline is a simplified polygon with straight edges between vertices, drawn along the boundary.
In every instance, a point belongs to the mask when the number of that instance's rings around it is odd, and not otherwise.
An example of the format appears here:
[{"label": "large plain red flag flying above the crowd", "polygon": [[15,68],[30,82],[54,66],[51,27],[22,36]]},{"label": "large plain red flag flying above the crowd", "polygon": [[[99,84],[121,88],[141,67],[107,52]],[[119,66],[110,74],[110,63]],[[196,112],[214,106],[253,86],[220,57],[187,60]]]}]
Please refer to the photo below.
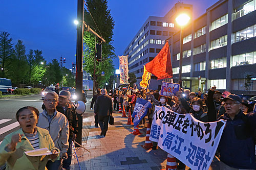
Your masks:
[{"label": "large plain red flag flying above the crowd", "polygon": [[155,75],[158,78],[157,80],[173,77],[168,41],[166,41],[158,55],[151,62],[146,63],[146,70]]}]

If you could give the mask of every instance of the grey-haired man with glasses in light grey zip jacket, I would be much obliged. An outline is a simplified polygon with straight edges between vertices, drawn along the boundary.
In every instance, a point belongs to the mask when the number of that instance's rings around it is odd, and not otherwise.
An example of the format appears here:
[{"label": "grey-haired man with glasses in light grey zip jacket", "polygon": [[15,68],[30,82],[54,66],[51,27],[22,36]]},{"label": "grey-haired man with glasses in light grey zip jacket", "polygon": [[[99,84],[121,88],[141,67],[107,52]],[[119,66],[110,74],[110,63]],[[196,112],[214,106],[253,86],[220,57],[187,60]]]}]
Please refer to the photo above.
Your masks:
[{"label": "grey-haired man with glasses in light grey zip jacket", "polygon": [[[56,111],[58,105],[58,94],[55,92],[48,92],[44,100],[45,109],[39,114],[37,126],[47,129],[52,137],[55,147],[61,151],[63,158],[68,158],[67,150],[69,148],[69,122],[67,117]],[[49,160],[47,162],[47,169],[58,169],[60,165],[60,158],[55,162]]]}]

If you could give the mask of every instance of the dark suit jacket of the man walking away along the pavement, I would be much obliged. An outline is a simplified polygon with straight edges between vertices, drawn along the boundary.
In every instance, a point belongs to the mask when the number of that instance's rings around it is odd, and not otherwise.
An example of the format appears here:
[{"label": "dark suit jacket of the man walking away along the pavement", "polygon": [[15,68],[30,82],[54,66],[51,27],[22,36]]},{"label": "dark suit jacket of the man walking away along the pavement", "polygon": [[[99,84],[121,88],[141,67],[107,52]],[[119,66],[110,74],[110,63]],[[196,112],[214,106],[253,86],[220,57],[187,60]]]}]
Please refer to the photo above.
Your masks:
[{"label": "dark suit jacket of the man walking away along the pavement", "polygon": [[112,114],[112,99],[108,94],[98,96],[94,106],[94,112],[97,113],[98,116],[108,116]]}]

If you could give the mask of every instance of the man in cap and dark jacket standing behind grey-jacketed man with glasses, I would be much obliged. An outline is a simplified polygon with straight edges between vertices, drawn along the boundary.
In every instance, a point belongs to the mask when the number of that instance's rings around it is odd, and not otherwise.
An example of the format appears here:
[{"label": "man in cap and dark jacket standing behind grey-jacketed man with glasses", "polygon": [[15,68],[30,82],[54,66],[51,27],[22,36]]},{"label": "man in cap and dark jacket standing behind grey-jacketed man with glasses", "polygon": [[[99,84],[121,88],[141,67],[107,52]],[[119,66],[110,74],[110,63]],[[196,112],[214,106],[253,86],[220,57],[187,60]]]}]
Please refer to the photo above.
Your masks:
[{"label": "man in cap and dark jacket standing behind grey-jacketed man with glasses", "polygon": [[78,133],[78,118],[76,115],[74,105],[70,102],[70,92],[67,90],[62,90],[59,93],[59,104],[56,107],[57,111],[65,114],[69,121],[69,149],[68,149],[68,159],[63,160],[63,168],[70,169],[71,158],[72,158],[72,141],[76,139]]}]

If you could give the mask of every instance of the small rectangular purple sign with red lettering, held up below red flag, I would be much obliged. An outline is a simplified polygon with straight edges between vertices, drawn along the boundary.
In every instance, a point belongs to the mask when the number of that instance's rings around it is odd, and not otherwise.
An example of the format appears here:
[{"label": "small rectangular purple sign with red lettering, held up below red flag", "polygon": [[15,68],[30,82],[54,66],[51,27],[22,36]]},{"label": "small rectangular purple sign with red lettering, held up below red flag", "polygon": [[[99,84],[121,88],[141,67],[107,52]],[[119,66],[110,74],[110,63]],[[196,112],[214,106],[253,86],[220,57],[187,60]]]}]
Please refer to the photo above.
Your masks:
[{"label": "small rectangular purple sign with red lettering, held up below red flag", "polygon": [[162,82],[160,95],[173,96],[173,95],[176,95],[179,89],[180,89],[180,84]]}]

